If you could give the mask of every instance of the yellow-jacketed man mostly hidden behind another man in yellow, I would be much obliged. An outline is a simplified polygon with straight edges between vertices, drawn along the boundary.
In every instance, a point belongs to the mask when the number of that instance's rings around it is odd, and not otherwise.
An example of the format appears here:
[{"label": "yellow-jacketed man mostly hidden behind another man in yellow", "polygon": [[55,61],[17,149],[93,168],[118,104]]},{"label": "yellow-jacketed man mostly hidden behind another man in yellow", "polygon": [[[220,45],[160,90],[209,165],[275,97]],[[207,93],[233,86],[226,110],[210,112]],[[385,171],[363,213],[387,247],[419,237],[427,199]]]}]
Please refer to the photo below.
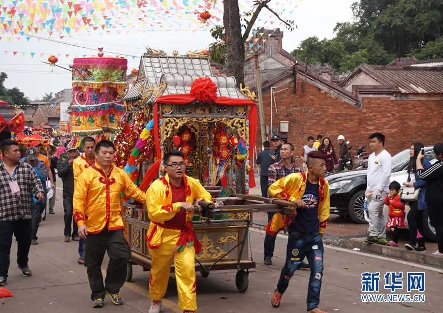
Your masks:
[{"label": "yellow-jacketed man mostly hidden behind another man in yellow", "polygon": [[[74,171],[74,187],[77,182],[80,174],[95,164],[95,139],[93,137],[85,137],[82,140],[82,149],[85,152],[83,156],[77,157],[72,163],[72,169]],[[78,254],[80,257],[78,258],[78,263],[83,264],[83,245],[85,244],[85,240],[81,237],[79,238],[78,243]]]}]

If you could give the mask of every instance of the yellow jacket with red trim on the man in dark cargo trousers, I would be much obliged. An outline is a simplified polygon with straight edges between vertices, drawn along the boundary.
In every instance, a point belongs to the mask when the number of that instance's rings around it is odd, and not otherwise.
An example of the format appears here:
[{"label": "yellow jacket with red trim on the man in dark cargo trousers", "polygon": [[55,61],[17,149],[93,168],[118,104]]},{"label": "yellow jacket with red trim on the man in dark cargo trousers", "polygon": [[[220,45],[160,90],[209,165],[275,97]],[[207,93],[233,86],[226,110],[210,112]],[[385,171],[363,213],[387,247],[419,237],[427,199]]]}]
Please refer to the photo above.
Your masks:
[{"label": "yellow jacket with red trim on the man in dark cargo trousers", "polygon": [[98,164],[81,173],[74,186],[74,220],[96,234],[108,223],[109,230],[123,229],[120,192],[145,202],[145,193],[129,179],[124,170],[112,166],[108,177]]}]

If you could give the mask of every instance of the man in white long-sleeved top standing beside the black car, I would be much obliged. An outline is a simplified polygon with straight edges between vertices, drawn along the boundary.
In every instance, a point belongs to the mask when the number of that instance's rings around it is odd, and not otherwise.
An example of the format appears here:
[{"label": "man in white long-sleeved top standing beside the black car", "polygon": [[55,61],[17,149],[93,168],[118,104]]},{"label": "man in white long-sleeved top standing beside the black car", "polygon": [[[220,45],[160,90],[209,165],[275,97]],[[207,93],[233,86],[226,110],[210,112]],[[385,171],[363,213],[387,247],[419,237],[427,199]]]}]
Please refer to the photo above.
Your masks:
[{"label": "man in white long-sleeved top standing beside the black car", "polygon": [[375,132],[369,136],[374,153],[368,159],[366,198],[369,202],[369,237],[365,242],[386,245],[386,221],[383,216],[384,198],[389,193],[392,157],[384,150],[384,135]]}]

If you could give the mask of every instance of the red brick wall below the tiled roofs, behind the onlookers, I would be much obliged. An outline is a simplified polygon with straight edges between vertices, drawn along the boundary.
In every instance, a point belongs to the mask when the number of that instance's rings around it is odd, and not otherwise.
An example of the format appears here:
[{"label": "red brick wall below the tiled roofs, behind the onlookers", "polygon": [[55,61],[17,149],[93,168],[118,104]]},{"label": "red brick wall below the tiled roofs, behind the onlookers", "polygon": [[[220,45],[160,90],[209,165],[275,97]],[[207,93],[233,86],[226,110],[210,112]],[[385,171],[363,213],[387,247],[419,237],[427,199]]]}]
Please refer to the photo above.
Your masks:
[{"label": "red brick wall below the tiled roofs, behind the onlookers", "polygon": [[[367,144],[368,136],[378,131],[386,136],[385,147],[391,155],[409,148],[414,141],[421,141],[425,145],[443,142],[442,99],[391,100],[390,97],[365,97],[362,109],[358,109],[309,83],[305,83],[302,92],[302,83],[303,80],[299,79],[296,94],[293,94],[293,88],[287,89],[284,99],[275,94],[279,119],[289,121],[289,132],[280,132],[274,99],[272,103],[272,126],[278,127],[279,134],[288,137],[297,154],[306,144],[308,136],[316,138],[318,134],[329,137],[335,147],[338,146],[338,135],[344,135],[350,141],[349,146],[355,150]],[[283,92],[280,96],[283,98]],[[271,93],[263,96],[263,104],[266,125],[270,126]],[[257,151],[261,150],[259,124],[258,121],[255,141]],[[370,152],[369,147],[366,151]]]}]

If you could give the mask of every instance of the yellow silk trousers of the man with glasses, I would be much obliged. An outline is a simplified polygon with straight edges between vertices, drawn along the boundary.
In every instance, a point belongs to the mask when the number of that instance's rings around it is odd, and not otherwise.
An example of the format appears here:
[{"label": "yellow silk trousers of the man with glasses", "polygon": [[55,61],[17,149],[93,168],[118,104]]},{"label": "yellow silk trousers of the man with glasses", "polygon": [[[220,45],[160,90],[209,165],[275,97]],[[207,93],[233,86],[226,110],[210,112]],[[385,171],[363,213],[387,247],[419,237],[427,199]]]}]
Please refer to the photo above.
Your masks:
[{"label": "yellow silk trousers of the man with glasses", "polygon": [[168,287],[172,259],[174,259],[180,310],[197,311],[195,249],[185,247],[171,257],[179,236],[180,230],[163,229],[160,247],[149,249],[152,256],[149,296],[154,301],[159,301],[164,297]]}]

